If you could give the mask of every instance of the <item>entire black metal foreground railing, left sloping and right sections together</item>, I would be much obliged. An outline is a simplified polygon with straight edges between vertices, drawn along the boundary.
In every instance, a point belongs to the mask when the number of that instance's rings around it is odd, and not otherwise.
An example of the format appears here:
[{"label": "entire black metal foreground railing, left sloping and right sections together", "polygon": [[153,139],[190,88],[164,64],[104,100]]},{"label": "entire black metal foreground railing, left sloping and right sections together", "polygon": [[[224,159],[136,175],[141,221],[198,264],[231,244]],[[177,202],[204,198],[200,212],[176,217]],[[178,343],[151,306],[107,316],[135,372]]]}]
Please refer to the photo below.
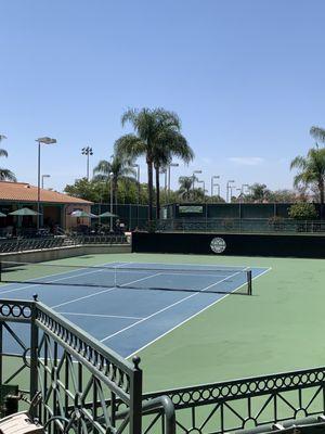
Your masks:
[{"label": "entire black metal foreground railing, left sloping and right sections together", "polygon": [[0,301],[0,384],[40,393],[50,433],[263,432],[325,412],[325,367],[143,394],[139,363],[37,301]]}]

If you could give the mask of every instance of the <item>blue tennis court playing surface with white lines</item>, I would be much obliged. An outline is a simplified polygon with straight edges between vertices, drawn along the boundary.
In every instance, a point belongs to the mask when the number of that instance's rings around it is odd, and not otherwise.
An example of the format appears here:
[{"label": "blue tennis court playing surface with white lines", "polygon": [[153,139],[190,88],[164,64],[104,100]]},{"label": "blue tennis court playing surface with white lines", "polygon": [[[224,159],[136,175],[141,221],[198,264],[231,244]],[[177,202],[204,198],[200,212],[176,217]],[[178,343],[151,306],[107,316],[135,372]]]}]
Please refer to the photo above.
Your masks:
[{"label": "blue tennis court playing surface with white lines", "polygon": [[[128,357],[247,284],[246,267],[138,263],[107,266],[118,268],[118,282],[112,269],[75,267],[42,277],[42,282],[36,278],[32,283],[1,285],[0,296],[31,299],[37,293],[39,301]],[[269,269],[250,270],[257,278]]]}]

